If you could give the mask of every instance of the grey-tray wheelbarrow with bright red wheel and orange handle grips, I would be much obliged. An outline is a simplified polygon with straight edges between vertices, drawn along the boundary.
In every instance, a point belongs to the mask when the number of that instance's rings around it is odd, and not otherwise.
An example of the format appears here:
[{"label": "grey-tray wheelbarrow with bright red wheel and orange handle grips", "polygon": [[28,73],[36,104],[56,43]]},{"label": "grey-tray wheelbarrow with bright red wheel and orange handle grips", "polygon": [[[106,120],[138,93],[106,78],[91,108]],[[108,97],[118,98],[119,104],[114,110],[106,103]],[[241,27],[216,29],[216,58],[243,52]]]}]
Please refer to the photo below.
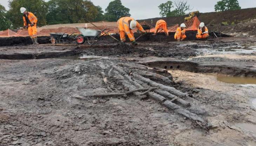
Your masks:
[{"label": "grey-tray wheelbarrow with bright red wheel and orange handle grips", "polygon": [[104,29],[104,30],[94,30],[94,29],[88,29],[88,28],[83,28],[83,27],[76,27],[79,32],[81,32],[80,35],[77,35],[75,37],[75,41],[78,44],[83,44],[85,41],[87,41],[88,44],[97,44],[100,40],[101,37],[105,35],[105,30],[108,30],[106,33],[112,31],[109,30],[110,28]]}]

